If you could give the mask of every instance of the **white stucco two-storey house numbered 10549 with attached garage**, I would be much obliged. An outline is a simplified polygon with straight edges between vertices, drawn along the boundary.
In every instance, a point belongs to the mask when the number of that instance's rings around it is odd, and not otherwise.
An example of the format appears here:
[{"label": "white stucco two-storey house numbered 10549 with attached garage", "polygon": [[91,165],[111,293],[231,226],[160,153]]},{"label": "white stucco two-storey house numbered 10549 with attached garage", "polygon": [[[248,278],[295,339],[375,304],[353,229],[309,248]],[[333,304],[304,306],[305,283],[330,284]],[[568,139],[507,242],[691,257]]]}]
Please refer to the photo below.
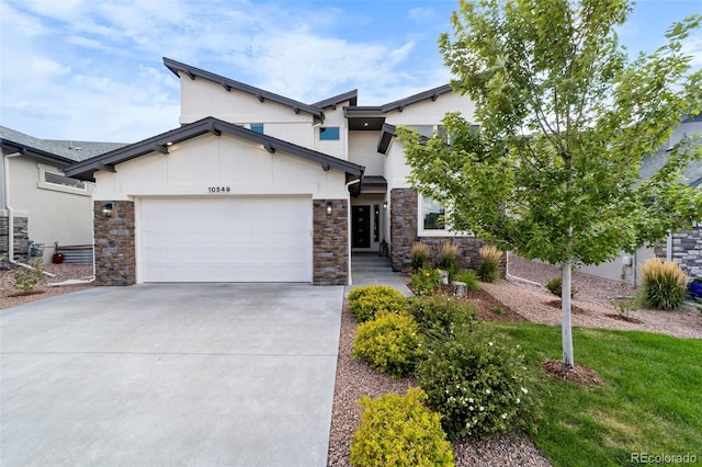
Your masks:
[{"label": "white stucco two-storey house numbered 10549 with attached garage", "polygon": [[348,284],[353,252],[389,247],[405,270],[416,241],[480,242],[435,223],[407,183],[397,125],[427,134],[473,102],[442,86],[378,106],[355,90],[303,103],[165,58],[180,80],[180,127],[77,161],[95,183],[97,283]]}]

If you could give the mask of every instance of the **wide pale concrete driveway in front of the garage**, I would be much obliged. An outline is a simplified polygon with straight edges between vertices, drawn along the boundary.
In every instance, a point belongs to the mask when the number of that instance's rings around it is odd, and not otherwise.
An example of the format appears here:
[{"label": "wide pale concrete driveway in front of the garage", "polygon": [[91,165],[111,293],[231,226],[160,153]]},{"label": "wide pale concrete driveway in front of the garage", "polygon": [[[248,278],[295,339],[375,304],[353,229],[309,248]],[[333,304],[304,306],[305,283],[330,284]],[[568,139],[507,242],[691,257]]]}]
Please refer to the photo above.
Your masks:
[{"label": "wide pale concrete driveway in front of the garage", "polygon": [[95,287],[0,311],[0,465],[325,466],[343,287]]}]

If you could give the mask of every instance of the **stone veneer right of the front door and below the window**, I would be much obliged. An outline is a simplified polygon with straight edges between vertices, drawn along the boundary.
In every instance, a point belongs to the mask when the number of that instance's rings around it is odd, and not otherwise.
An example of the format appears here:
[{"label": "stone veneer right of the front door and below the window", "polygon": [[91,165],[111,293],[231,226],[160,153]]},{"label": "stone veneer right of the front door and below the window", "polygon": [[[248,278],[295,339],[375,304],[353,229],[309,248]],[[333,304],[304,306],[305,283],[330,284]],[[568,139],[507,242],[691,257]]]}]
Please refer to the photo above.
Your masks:
[{"label": "stone veneer right of the front door and below the window", "polygon": [[[441,244],[453,243],[458,247],[458,266],[477,269],[480,265],[482,240],[474,237],[418,237],[419,206],[417,200],[417,190],[390,190],[390,262],[393,269],[404,272],[411,269],[412,244],[417,241],[429,246],[431,261],[434,263],[439,260]],[[503,269],[500,272],[503,275]]]}]

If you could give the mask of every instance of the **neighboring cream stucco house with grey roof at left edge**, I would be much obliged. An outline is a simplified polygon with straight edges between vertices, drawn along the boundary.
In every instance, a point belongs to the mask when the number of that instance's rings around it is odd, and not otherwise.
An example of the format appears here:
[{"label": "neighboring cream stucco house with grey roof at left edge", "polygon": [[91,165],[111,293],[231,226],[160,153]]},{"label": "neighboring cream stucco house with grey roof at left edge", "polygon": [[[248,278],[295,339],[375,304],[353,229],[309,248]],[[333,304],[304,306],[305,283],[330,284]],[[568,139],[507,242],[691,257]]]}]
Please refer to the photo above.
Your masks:
[{"label": "neighboring cream stucco house with grey roof at left edge", "polygon": [[[38,257],[46,264],[56,243],[92,254],[94,184],[66,176],[64,168],[120,146],[39,139],[0,126],[0,267]],[[31,250],[30,242],[44,248]]]}]

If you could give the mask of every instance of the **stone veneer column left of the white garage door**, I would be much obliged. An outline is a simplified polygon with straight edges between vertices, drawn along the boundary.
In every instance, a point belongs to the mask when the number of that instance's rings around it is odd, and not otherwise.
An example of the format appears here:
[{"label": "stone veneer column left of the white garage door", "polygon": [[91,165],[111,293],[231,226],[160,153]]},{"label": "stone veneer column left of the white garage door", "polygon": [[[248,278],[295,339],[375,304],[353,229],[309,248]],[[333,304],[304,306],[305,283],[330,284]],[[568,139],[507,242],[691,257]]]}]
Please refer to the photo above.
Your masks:
[{"label": "stone veneer column left of the white garage door", "polygon": [[[112,217],[102,215],[102,207],[106,203],[112,203]],[[95,230],[95,284],[135,284],[134,202],[97,201],[93,204],[93,218]]]}]

